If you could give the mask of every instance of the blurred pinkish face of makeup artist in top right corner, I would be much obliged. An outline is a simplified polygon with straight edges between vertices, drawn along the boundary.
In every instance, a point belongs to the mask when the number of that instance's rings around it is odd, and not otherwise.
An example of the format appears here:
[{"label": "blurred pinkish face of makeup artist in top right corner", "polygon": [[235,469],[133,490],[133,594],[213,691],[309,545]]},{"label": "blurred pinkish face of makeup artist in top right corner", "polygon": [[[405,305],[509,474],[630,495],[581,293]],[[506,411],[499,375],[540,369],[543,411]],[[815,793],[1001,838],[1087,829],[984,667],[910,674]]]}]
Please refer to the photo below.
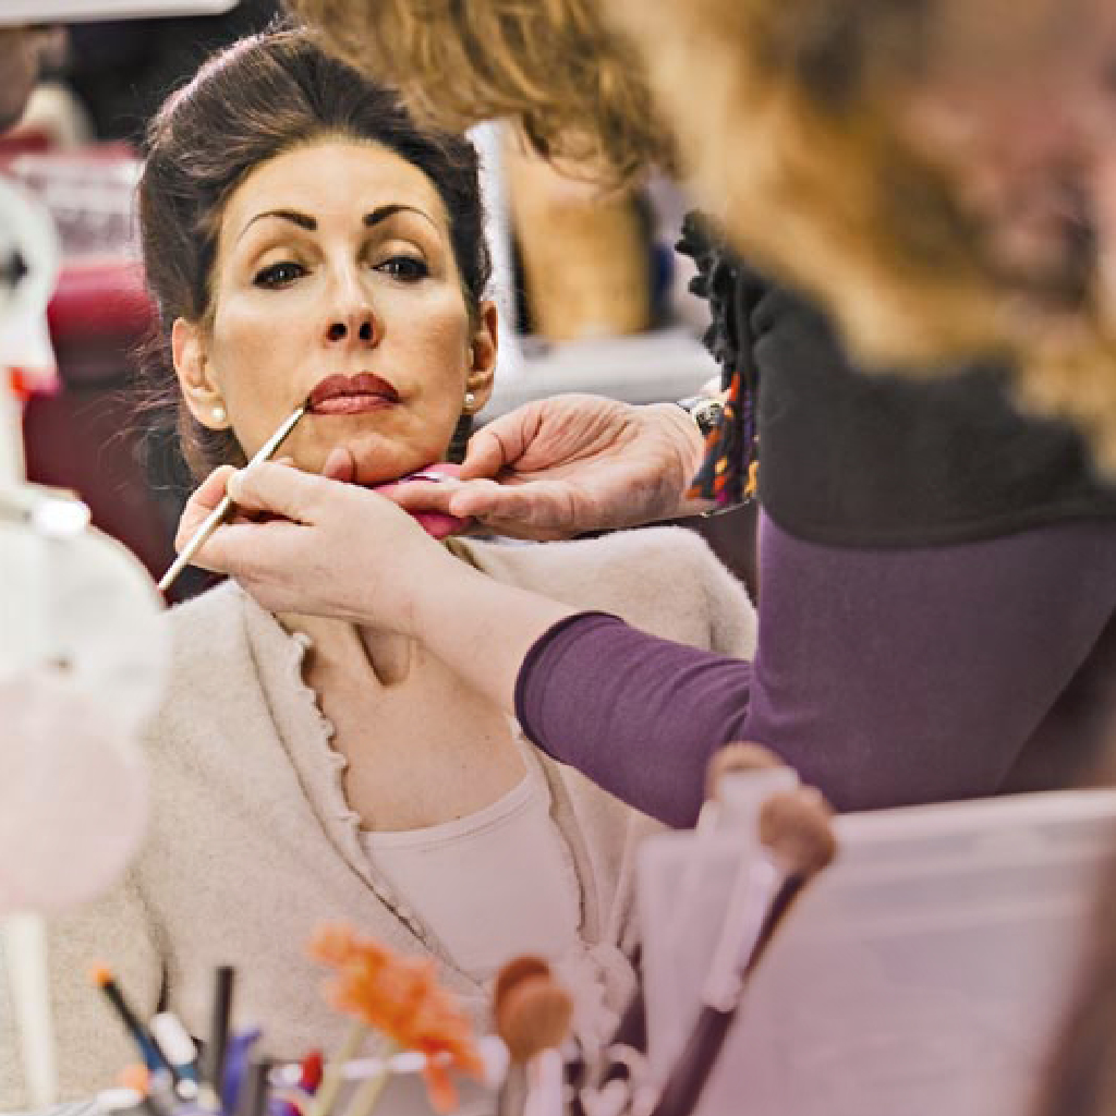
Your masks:
[{"label": "blurred pinkish face of makeup artist in top right corner", "polygon": [[992,262],[1074,309],[1116,252],[1116,4],[940,0],[943,41],[905,104],[908,134],[949,166]]}]

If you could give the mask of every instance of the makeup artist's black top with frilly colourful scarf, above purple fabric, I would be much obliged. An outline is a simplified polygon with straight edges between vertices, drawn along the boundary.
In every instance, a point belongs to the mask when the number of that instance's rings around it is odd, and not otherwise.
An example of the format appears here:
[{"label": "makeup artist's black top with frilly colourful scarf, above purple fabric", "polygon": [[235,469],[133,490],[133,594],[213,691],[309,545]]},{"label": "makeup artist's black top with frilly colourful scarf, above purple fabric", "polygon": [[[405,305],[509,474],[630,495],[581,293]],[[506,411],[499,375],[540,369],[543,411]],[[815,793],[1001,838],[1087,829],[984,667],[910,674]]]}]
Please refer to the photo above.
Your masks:
[{"label": "makeup artist's black top with frilly colourful scarf, above purple fabric", "polygon": [[729,506],[758,480],[783,529],[843,547],[952,546],[1116,516],[1116,487],[1077,432],[1021,415],[1003,364],[867,368],[821,309],[734,256],[704,218],[686,221],[680,250],[698,264],[731,396],[692,496]]}]

